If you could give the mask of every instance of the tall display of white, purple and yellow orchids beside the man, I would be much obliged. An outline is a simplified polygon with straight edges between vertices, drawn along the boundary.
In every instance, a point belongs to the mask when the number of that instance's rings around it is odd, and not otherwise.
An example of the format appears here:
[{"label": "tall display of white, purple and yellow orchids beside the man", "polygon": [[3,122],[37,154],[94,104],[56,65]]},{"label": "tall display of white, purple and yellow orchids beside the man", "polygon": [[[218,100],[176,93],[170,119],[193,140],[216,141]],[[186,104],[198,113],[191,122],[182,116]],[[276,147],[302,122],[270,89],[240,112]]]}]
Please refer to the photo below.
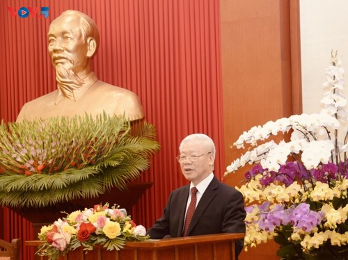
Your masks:
[{"label": "tall display of white, purple and yellow orchids beside the man", "polygon": [[[274,239],[282,259],[347,259],[347,99],[340,65],[331,53],[321,113],[269,121],[235,142],[248,151],[226,174],[254,165],[238,188],[247,204],[246,250]],[[278,133],[287,140],[269,140]]]}]

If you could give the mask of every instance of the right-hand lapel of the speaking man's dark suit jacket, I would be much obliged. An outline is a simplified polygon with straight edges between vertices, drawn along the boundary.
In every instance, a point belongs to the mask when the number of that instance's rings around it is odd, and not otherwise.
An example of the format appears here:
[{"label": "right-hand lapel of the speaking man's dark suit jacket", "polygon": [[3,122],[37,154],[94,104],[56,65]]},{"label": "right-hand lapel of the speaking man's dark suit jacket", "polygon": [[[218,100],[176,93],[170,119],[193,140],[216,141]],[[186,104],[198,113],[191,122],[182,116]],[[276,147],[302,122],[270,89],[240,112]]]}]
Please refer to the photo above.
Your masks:
[{"label": "right-hand lapel of the speaking man's dark suit jacket", "polygon": [[209,203],[216,196],[218,186],[219,186],[219,181],[218,179],[216,179],[216,177],[214,177],[212,181],[210,182],[210,184],[207,186],[207,189],[203,193],[203,196],[200,198],[200,201],[198,202],[195,213],[193,213],[193,217],[192,217],[189,229],[187,230],[187,235],[189,235],[193,227],[196,226],[197,222],[203,216],[205,209],[207,209],[207,206],[209,205]]}]

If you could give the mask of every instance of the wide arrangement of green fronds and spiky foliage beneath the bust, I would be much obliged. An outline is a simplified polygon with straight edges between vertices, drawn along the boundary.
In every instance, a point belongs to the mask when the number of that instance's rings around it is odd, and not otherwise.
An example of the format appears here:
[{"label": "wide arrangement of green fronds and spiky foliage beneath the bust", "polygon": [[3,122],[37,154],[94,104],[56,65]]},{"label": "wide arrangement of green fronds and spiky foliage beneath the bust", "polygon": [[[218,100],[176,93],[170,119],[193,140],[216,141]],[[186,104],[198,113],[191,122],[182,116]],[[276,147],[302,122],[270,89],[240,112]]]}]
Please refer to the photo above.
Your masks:
[{"label": "wide arrangement of green fronds and spiky foliage beneath the bust", "polygon": [[1,122],[0,204],[40,208],[127,188],[158,151],[155,127],[124,117]]}]

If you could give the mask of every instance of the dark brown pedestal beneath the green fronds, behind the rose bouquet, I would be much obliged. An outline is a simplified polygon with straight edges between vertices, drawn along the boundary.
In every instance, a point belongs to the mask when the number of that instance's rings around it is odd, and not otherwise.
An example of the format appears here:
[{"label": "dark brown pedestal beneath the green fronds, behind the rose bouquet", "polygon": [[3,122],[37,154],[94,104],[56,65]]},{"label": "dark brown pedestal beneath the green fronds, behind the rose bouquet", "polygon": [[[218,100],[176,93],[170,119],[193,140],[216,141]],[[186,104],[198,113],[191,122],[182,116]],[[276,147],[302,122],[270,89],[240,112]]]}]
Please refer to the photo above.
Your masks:
[{"label": "dark brown pedestal beneath the green fronds, behind the rose bouquet", "polygon": [[109,202],[110,206],[113,204],[120,205],[121,209],[126,209],[129,215],[132,215],[132,206],[136,204],[141,195],[145,193],[145,190],[152,186],[152,182],[142,183],[130,183],[127,184],[127,190],[120,190],[113,188],[109,192],[106,192],[99,197],[70,200],[69,202],[57,203],[52,206],[45,206],[42,208],[10,208],[15,213],[18,213],[26,220],[32,223],[33,231],[35,234],[34,239],[38,239],[36,234],[40,233],[42,225],[53,224],[58,218],[66,216],[65,213],[71,213],[72,211],[84,210],[85,208],[91,208],[95,204],[104,205]]}]

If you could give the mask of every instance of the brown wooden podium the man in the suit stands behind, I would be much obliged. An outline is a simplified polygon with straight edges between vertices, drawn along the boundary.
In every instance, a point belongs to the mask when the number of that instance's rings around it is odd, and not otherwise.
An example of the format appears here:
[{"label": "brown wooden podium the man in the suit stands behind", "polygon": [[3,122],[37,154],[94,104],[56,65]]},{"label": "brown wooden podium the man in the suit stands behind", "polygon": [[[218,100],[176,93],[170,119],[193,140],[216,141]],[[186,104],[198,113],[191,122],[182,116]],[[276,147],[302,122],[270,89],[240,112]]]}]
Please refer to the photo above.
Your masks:
[{"label": "brown wooden podium the man in the suit stands behind", "polygon": [[[229,260],[235,259],[235,241],[244,234],[213,234],[128,242],[120,251],[95,247],[93,251],[77,249],[59,260]],[[41,241],[26,241],[37,250]],[[36,259],[47,260],[48,257]]]}]

